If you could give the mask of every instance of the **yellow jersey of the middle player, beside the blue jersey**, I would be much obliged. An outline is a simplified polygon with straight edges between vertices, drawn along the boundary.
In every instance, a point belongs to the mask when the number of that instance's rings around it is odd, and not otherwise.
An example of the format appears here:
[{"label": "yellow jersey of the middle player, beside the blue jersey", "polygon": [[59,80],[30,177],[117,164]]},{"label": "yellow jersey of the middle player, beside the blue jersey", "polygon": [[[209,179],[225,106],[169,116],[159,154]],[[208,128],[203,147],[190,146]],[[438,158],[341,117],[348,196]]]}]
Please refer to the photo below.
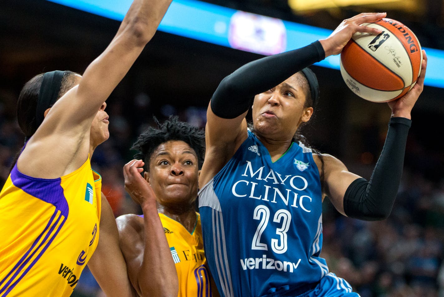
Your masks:
[{"label": "yellow jersey of the middle player, beside the blue jersey", "polygon": [[159,213],[179,278],[178,297],[210,297],[211,282],[203,252],[200,215],[192,233],[182,224]]}]

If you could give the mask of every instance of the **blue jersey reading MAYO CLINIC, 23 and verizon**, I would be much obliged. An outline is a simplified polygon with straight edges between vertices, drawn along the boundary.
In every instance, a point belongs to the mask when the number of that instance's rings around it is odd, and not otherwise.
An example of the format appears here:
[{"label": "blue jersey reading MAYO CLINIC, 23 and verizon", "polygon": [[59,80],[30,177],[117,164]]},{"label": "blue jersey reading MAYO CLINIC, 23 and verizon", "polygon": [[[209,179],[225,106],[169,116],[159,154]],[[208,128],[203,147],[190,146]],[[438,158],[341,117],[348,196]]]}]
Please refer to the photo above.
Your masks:
[{"label": "blue jersey reading MAYO CLINIC, 23 and verizon", "polygon": [[312,150],[292,143],[275,162],[248,138],[199,192],[205,254],[223,296],[305,291],[329,273],[319,257],[322,194]]}]

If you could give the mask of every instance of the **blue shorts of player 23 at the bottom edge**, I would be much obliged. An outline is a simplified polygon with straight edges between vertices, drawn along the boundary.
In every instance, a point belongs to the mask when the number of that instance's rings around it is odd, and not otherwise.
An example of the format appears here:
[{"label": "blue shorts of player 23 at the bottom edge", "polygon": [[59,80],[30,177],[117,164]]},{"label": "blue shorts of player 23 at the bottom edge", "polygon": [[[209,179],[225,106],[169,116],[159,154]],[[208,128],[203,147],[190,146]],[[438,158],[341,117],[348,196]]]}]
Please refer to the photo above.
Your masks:
[{"label": "blue shorts of player 23 at the bottom edge", "polygon": [[313,288],[304,293],[274,293],[267,297],[360,297],[358,293],[352,291],[352,286],[334,273],[328,273],[321,278],[319,283],[313,284]]}]

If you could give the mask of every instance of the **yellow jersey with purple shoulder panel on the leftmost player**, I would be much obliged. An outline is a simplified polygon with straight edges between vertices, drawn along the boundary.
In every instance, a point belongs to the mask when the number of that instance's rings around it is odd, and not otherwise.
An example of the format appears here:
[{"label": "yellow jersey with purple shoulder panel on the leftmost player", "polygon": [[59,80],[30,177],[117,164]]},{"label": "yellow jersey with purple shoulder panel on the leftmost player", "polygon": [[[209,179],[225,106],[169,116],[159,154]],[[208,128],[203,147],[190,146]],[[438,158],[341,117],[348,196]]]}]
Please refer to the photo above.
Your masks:
[{"label": "yellow jersey with purple shoulder panel on the leftmost player", "polygon": [[0,297],[71,295],[99,240],[101,184],[89,158],[56,179],[12,169],[0,192]]}]

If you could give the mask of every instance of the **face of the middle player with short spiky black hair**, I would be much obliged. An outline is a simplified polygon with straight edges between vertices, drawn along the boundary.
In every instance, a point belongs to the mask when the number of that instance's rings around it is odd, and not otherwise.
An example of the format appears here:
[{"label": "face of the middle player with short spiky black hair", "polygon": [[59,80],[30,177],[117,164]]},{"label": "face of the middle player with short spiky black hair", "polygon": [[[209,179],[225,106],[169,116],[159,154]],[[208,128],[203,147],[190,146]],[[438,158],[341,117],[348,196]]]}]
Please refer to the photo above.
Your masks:
[{"label": "face of the middle player with short spiky black hair", "polygon": [[194,205],[198,178],[196,153],[184,141],[167,141],[160,144],[151,155],[147,180],[160,205]]}]

